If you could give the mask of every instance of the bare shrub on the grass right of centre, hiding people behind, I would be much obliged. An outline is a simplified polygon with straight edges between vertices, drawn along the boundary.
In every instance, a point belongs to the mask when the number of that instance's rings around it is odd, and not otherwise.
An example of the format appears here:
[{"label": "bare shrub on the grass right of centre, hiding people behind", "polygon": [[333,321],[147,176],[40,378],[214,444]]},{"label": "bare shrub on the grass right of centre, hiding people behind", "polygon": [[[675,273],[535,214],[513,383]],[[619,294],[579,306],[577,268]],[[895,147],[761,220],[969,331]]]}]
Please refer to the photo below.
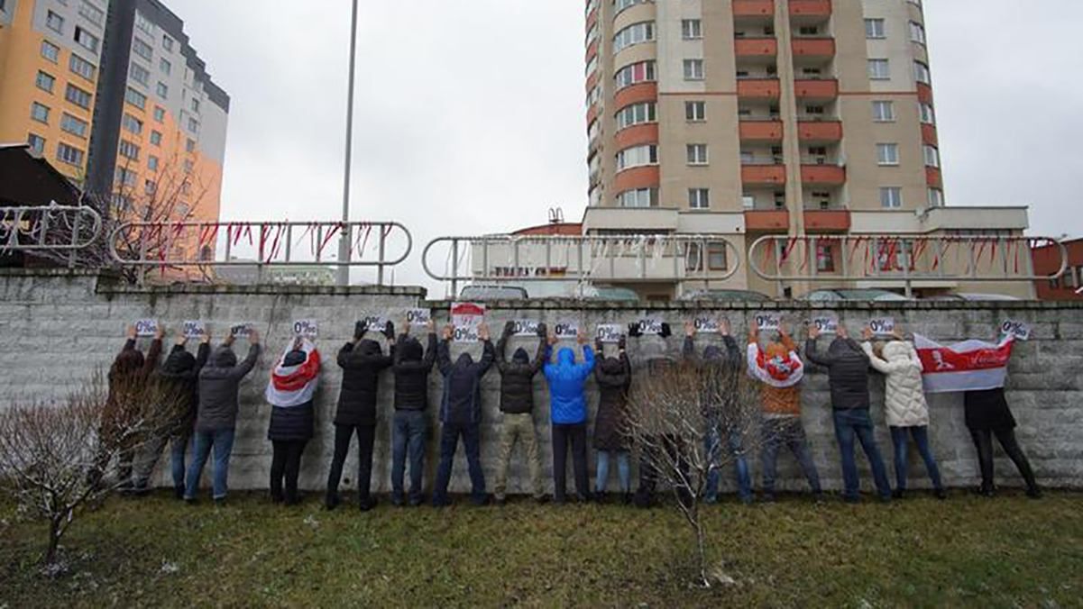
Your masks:
[{"label": "bare shrub on the grass right of centre, hiding people behind", "polygon": [[656,480],[673,490],[695,538],[697,583],[704,587],[726,579],[707,566],[702,519],[707,480],[730,471],[744,453],[755,453],[759,408],[758,387],[742,370],[688,359],[653,366],[637,376],[629,398],[628,435],[639,452],[640,484]]}]

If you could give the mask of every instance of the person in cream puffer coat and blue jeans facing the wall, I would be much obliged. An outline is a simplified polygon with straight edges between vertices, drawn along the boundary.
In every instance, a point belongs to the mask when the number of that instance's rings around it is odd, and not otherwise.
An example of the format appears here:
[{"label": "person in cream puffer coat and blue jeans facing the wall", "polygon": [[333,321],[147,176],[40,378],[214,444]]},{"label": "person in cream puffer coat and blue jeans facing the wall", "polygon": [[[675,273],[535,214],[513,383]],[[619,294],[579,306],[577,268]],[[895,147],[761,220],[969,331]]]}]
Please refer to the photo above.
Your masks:
[{"label": "person in cream puffer coat and blue jeans facing the wall", "polygon": [[908,435],[913,438],[917,452],[925,461],[934,492],[938,499],[945,499],[940,468],[929,449],[929,405],[925,400],[922,360],[917,357],[917,349],[896,330],[883,352],[877,354],[872,344],[873,331],[865,328],[863,335],[861,348],[869,356],[873,369],[886,378],[884,411],[895,446],[896,499],[901,499],[906,492]]}]

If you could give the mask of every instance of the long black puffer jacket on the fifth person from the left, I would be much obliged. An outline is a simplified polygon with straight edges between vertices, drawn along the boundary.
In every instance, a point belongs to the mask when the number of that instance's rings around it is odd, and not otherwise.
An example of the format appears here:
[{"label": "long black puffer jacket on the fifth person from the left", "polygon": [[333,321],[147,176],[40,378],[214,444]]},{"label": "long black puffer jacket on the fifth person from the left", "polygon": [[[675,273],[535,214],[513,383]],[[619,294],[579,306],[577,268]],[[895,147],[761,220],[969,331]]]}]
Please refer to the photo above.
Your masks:
[{"label": "long black puffer jacket on the fifth person from the left", "polygon": [[[391,347],[394,354],[394,346]],[[383,355],[380,343],[364,340],[347,343],[340,350],[342,369],[336,425],[376,425],[376,398],[380,372],[391,367],[393,355]]]}]

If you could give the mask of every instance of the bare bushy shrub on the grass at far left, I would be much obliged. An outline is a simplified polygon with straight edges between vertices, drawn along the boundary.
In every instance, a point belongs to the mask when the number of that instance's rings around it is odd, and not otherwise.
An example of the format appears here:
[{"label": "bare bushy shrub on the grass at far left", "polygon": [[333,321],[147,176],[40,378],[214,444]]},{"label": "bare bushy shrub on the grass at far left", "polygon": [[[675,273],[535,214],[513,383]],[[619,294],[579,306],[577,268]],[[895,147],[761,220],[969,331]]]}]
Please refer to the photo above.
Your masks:
[{"label": "bare bushy shrub on the grass at far left", "polygon": [[168,434],[178,420],[177,396],[157,383],[113,390],[116,399],[146,406],[118,420],[99,372],[60,402],[0,409],[0,490],[21,514],[49,522],[42,557],[49,569],[63,570],[57,550],[76,517],[127,482],[105,467]]}]

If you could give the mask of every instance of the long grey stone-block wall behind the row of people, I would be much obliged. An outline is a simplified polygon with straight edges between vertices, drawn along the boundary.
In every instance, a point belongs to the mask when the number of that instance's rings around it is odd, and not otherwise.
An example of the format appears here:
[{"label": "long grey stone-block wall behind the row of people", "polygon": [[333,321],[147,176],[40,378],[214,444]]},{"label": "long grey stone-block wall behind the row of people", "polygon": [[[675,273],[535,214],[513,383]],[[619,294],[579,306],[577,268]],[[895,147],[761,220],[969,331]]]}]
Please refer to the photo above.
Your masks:
[{"label": "long grey stone-block wall behind the row of people", "polygon": [[[18,400],[55,399],[83,383],[95,369],[107,369],[123,344],[125,327],[140,318],[157,318],[170,329],[185,319],[201,319],[216,336],[232,323],[252,321],[264,335],[268,345],[260,365],[244,382],[237,440],[230,472],[234,489],[263,489],[268,484],[271,445],[266,440],[270,407],[263,400],[269,370],[274,357],[290,339],[295,319],[312,318],[321,323],[319,347],[325,356],[321,388],[316,398],[317,435],[309,445],[303,461],[302,486],[323,489],[334,445],[336,400],[341,374],[334,356],[350,339],[354,321],[364,315],[382,315],[400,319],[405,309],[432,307],[438,322],[447,319],[447,302],[425,301],[419,288],[222,288],[172,287],[139,289],[118,284],[97,275],[68,272],[3,272],[0,274],[0,332],[6,336],[3,354],[5,383],[0,386],[0,405]],[[781,313],[784,318],[800,323],[824,307],[800,303],[774,303],[764,306],[726,306],[699,310],[691,303],[628,304],[577,303],[572,301],[521,301],[490,303],[488,321],[494,332],[509,319],[538,319],[550,325],[574,320],[583,327],[596,323],[629,322],[644,316],[657,316],[669,321],[675,331],[684,319],[699,314],[728,317],[734,333],[743,335],[751,318],[765,308]],[[1040,482],[1051,487],[1083,487],[1083,403],[1081,403],[1080,371],[1083,365],[1083,305],[1053,303],[875,303],[847,304],[832,310],[851,332],[857,333],[872,317],[890,316],[908,331],[923,333],[941,342],[967,337],[992,340],[997,326],[1006,318],[1029,322],[1033,330],[1030,342],[1017,345],[1012,359],[1008,398],[1019,421],[1020,443],[1030,456]],[[657,337],[642,339],[661,341]],[[717,339],[716,339],[717,340]],[[531,347],[536,339],[517,339]],[[518,343],[517,343],[518,344]],[[679,354],[681,336],[668,341],[668,348]],[[703,343],[701,343],[702,345]],[[143,345],[141,345],[143,346]],[[513,344],[512,346],[516,346]],[[244,345],[238,349],[243,355]],[[456,345],[454,349],[471,348]],[[632,352],[635,358],[635,352]],[[430,399],[440,397],[441,379],[433,372]],[[883,416],[883,380],[874,375],[873,418],[877,425],[880,450],[890,468],[890,439]],[[377,431],[373,489],[390,489],[390,421],[392,380],[386,375],[381,386],[380,421]],[[492,485],[499,428],[499,375],[494,369],[483,383],[482,456],[486,480]],[[597,393],[590,387],[591,422],[597,407]],[[544,448],[544,464],[551,464],[548,433],[548,396],[540,375],[535,382],[538,408],[535,423]],[[826,376],[812,370],[803,392],[804,422],[812,451],[827,489],[838,489],[841,472],[838,450],[831,422]],[[930,396],[932,449],[940,461],[945,482],[952,487],[977,484],[977,462],[969,434],[963,422],[962,396]],[[430,409],[429,458],[426,486],[431,485],[436,461],[435,408]],[[356,455],[351,454],[344,471],[343,490],[355,488]],[[159,463],[159,480],[166,481]],[[453,491],[469,489],[461,449],[453,476]],[[871,487],[865,460],[862,464],[863,488]],[[593,455],[590,456],[593,465]],[[758,458],[751,459],[756,485],[759,484]],[[1014,466],[999,453],[997,479],[1002,485],[1018,485]],[[893,480],[893,472],[892,480]],[[209,476],[204,476],[205,485]],[[571,476],[569,480],[571,484]],[[348,481],[347,481],[348,480]],[[521,454],[512,461],[510,490],[525,490],[526,468]],[[615,484],[615,481],[614,481]],[[727,489],[732,489],[732,476],[723,475]],[[780,488],[805,488],[792,458],[780,458]],[[911,453],[911,487],[928,487],[924,466]]]}]

